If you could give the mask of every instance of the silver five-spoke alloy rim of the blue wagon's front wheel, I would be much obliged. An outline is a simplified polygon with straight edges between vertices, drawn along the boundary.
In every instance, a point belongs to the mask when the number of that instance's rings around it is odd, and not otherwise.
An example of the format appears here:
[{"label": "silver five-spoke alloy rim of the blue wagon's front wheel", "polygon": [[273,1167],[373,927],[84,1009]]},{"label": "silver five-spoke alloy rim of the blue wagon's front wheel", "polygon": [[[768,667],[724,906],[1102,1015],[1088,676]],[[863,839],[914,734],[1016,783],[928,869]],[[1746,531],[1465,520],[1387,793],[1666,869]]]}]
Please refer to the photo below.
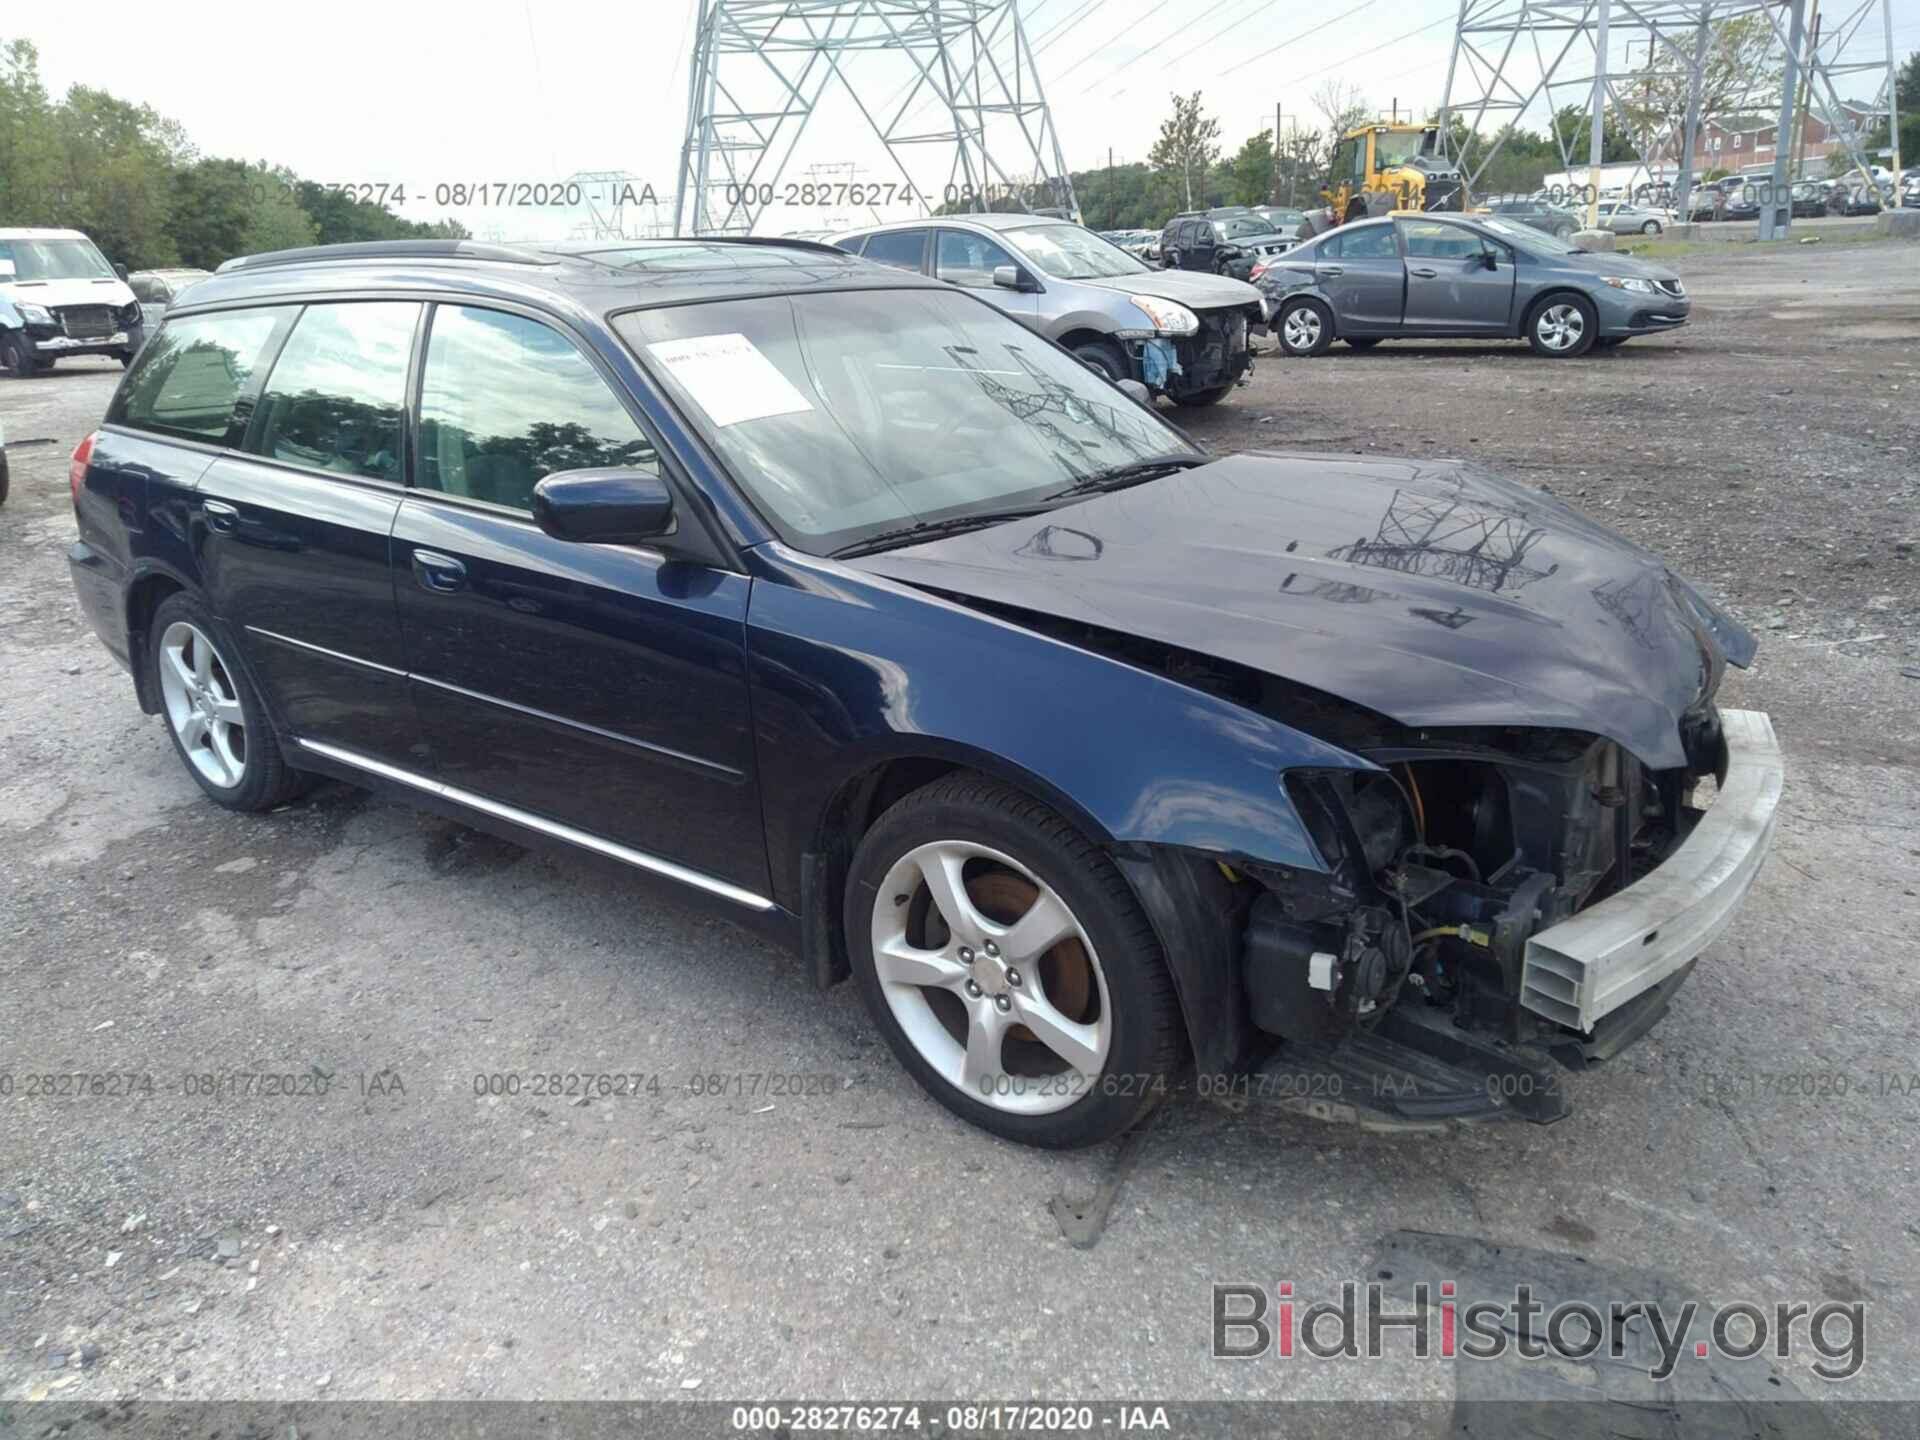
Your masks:
[{"label": "silver five-spoke alloy rim of the blue wagon's front wheel", "polygon": [[[1016,920],[995,920],[970,893],[983,881],[968,879],[968,862],[985,862],[987,870],[1020,881],[1021,891],[1031,887],[1031,902]],[[931,918],[918,904],[922,895],[947,929],[937,947],[910,937],[916,920],[925,933]],[[1092,941],[1066,900],[1012,856],[972,841],[933,841],[908,851],[874,897],[872,939],[879,989],[906,1039],[948,1085],[981,1104],[1014,1116],[1066,1110],[1106,1068],[1114,1010]],[[1087,1012],[1094,995],[1069,1002],[1066,991],[1075,989],[1075,975],[1062,964],[1085,964],[1091,972],[1098,996],[1091,1020],[1064,1012],[1062,1006]],[[1054,983],[1048,973],[1062,995],[1048,993]],[[929,998],[939,991],[958,1000],[941,1006],[947,1018]],[[964,1041],[950,1023],[956,1016],[966,1018]],[[1006,1043],[1016,1033],[1056,1064],[1008,1071]],[[1023,1050],[1031,1054],[1033,1046]],[[1025,1073],[1029,1068],[1033,1073]]]}]

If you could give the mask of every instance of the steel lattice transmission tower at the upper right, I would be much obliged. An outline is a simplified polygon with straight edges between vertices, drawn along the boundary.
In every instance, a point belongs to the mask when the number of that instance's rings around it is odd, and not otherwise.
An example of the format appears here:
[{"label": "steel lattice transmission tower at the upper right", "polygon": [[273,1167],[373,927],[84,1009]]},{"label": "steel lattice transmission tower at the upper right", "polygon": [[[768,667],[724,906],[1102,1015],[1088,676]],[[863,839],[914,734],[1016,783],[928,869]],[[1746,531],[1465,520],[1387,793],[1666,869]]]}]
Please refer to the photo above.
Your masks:
[{"label": "steel lattice transmission tower at the upper right", "polygon": [[[1811,31],[1809,4],[1818,17]],[[1749,17],[1764,23],[1778,69],[1726,50],[1728,21]],[[1642,65],[1628,60],[1636,50]],[[1855,75],[1878,77],[1868,109],[1891,117],[1899,144],[1891,0],[1837,0],[1824,13],[1820,0],[1461,0],[1440,123],[1444,136],[1452,117],[1467,125],[1459,161],[1473,194],[1509,125],[1536,104],[1549,115],[1565,104],[1592,109],[1597,94],[1601,131],[1624,125],[1640,159],[1634,182],[1670,184],[1686,205],[1701,123],[1749,108],[1780,117],[1774,190],[1786,188],[1797,104],[1826,123],[1864,179],[1868,157],[1843,88]],[[1574,136],[1551,129],[1567,169],[1584,169],[1590,156],[1572,154]],[[1786,219],[1784,194],[1761,202],[1763,238],[1784,232]]]}]

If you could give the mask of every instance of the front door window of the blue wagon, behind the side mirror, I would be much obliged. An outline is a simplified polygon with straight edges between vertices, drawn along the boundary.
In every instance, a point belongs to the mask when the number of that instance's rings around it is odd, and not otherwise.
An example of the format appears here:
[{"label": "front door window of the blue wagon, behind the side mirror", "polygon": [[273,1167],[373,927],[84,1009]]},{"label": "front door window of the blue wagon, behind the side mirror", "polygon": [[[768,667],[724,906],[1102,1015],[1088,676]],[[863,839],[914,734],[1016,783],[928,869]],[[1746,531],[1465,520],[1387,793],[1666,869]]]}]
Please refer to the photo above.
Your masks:
[{"label": "front door window of the blue wagon, behind the side mirror", "polygon": [[659,472],[659,455],[572,340],[522,315],[434,311],[415,484],[532,511],[545,476],[601,467]]}]

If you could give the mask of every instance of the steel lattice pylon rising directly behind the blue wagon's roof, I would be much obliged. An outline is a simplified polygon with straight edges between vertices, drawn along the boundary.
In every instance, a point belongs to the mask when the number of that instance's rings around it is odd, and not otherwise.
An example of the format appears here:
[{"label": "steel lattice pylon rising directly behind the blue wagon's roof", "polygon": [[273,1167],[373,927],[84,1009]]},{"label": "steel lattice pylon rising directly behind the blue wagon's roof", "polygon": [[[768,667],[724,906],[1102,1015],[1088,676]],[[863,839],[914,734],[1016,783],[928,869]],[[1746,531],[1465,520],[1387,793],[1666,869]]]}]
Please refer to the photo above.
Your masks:
[{"label": "steel lattice pylon rising directly behind the blue wagon's roof", "polygon": [[[925,213],[1039,192],[1077,215],[1018,0],[699,0],[676,234],[745,234],[781,204],[833,83],[899,171],[889,200]],[[945,159],[939,194],[920,188],[931,167],[908,169],[914,146]]]}]

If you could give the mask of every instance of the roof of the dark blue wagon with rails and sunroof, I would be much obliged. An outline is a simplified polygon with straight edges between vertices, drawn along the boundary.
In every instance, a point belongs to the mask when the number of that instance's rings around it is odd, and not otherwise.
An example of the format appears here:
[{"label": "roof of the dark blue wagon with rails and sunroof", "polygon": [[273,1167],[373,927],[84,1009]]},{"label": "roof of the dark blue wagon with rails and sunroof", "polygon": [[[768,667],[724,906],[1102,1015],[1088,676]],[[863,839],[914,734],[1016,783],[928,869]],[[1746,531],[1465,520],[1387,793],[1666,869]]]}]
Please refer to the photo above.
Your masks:
[{"label": "roof of the dark blue wagon with rails and sunroof", "polygon": [[586,313],[801,290],[933,286],[818,240],[701,236],[493,246],[378,240],[242,255],[192,290],[192,307],[269,303],[326,292],[447,292]]}]

